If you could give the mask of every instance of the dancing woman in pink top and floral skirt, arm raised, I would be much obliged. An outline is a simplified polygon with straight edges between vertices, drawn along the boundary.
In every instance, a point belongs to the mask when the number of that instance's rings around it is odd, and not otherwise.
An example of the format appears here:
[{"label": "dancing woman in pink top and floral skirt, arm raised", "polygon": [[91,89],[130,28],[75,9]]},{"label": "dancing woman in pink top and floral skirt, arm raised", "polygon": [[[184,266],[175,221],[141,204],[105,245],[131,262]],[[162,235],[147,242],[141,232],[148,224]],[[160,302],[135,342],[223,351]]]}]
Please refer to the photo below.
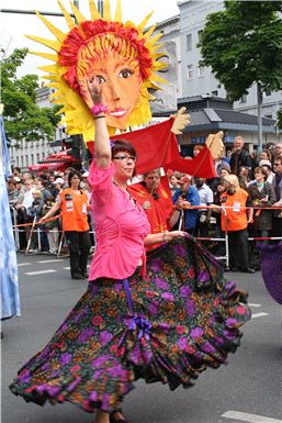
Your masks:
[{"label": "dancing woman in pink top and floral skirt, arm raised", "polygon": [[[26,401],[64,401],[95,413],[95,423],[126,423],[121,404],[134,381],[193,385],[239,345],[250,318],[246,293],[181,231],[148,234],[143,209],[126,190],[135,168],[131,144],[111,148],[100,86],[88,84],[95,122],[89,182],[97,253],[89,287],[46,347],[11,385]],[[146,260],[146,245],[163,244]]]}]

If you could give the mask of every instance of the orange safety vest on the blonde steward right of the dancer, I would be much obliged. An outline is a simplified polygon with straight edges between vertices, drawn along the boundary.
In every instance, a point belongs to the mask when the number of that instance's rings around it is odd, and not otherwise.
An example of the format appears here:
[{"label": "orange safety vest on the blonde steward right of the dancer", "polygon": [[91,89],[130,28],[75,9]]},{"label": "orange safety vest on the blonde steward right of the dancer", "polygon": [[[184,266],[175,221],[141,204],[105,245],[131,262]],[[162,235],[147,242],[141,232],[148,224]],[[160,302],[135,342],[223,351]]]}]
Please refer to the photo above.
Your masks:
[{"label": "orange safety vest on the blonde steward right of the dancer", "polygon": [[[246,202],[248,192],[239,188],[234,194],[223,192],[221,196],[222,207],[226,205],[227,214],[227,227],[225,214],[222,213],[222,230],[223,231],[241,231],[248,226],[248,220],[246,214]],[[230,209],[229,209],[230,208]]]}]

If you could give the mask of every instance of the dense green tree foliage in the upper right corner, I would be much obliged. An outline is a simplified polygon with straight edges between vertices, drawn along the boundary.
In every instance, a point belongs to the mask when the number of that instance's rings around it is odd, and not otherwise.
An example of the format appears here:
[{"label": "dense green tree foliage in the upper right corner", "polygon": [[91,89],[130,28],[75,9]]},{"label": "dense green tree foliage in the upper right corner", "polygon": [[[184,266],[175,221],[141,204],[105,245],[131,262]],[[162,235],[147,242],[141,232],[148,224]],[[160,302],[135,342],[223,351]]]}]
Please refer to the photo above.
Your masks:
[{"label": "dense green tree foliage in the upper right corner", "polygon": [[282,1],[225,1],[201,34],[202,66],[211,66],[232,100],[257,82],[262,91],[282,88]]}]

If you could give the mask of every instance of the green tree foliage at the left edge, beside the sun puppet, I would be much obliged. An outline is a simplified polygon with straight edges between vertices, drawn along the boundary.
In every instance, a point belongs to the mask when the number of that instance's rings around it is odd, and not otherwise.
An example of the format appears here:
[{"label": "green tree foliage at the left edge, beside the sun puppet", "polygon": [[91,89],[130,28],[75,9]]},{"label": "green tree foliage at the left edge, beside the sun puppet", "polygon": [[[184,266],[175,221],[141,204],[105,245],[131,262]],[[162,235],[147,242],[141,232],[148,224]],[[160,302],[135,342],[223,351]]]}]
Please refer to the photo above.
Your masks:
[{"label": "green tree foliage at the left edge, beside the sun puppet", "polygon": [[16,77],[27,48],[16,48],[1,62],[1,102],[4,104],[3,119],[9,141],[54,140],[59,115],[55,113],[59,107],[38,108],[35,104],[38,88],[36,75]]}]

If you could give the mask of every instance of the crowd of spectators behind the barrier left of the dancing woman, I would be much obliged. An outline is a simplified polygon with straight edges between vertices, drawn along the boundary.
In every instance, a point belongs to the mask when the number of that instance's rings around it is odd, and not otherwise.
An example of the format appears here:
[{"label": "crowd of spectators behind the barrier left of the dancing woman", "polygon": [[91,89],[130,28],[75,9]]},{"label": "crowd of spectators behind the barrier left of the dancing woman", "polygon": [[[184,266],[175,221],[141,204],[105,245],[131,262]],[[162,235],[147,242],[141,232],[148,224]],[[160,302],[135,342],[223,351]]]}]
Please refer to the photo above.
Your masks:
[{"label": "crowd of spectators behind the barrier left of the dancing woman", "polygon": [[[7,187],[12,222],[14,225],[19,225],[16,233],[20,251],[54,255],[58,253],[61,234],[60,219],[49,219],[42,224],[37,222],[59,200],[60,192],[68,188],[68,175],[74,170],[67,168],[65,171],[46,171],[41,176],[35,176],[31,172],[21,174],[21,169],[18,167],[13,169],[13,176],[8,180]],[[80,189],[90,199],[87,176],[87,172],[81,175]],[[58,218],[59,214],[58,211]],[[91,240],[94,247],[93,235]]]}]

